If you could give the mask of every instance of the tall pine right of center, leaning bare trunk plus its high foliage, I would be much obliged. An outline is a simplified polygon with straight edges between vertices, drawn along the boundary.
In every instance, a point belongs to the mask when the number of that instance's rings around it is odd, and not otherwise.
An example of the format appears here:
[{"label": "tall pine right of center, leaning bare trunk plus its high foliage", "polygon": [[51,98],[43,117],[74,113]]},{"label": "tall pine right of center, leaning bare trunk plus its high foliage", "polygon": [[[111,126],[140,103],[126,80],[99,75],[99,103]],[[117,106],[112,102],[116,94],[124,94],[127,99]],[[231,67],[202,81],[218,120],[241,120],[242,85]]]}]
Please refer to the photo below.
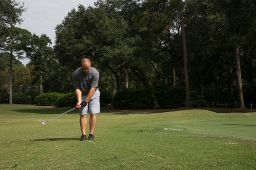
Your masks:
[{"label": "tall pine right of center, leaning bare trunk plus its high foliage", "polygon": [[[134,17],[135,27],[137,27],[139,31],[149,31],[151,37],[155,39],[158,39],[159,37],[157,35],[161,34],[164,31],[170,32],[170,29],[175,25],[175,13],[178,12],[180,15],[180,25],[183,42],[183,69],[186,89],[186,107],[190,107],[188,61],[183,21],[183,2],[182,0],[146,0],[143,6],[144,7],[142,7],[142,10],[137,15],[137,17]],[[161,43],[159,43],[160,46],[158,48],[163,48],[163,39],[161,39],[160,42]],[[175,66],[173,66],[173,68],[175,68]]]}]

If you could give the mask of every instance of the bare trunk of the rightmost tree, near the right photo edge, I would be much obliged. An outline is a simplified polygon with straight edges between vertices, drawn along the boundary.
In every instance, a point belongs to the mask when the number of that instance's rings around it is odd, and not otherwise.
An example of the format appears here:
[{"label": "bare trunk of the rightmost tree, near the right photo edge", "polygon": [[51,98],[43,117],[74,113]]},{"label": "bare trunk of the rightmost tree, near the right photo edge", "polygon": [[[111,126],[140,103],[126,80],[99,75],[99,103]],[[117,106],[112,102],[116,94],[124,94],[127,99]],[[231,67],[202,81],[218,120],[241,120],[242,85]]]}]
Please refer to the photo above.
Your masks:
[{"label": "bare trunk of the rightmost tree, near the right photo edge", "polygon": [[240,53],[239,47],[235,49],[235,58],[236,58],[236,70],[237,70],[237,79],[238,79],[238,97],[239,97],[239,107],[245,108],[244,97],[243,97],[243,84],[242,84],[242,73],[240,66]]}]

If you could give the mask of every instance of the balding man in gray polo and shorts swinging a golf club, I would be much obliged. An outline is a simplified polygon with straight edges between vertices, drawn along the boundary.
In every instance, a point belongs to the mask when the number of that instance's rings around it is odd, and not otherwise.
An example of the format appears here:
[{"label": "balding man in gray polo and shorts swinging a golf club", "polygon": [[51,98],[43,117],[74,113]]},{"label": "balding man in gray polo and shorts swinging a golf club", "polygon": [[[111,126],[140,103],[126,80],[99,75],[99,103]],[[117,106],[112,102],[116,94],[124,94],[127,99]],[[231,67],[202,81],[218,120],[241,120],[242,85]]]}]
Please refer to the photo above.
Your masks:
[{"label": "balding man in gray polo and shorts swinging a golf club", "polygon": [[81,67],[73,74],[73,84],[77,98],[76,108],[79,108],[80,127],[82,136],[80,140],[86,140],[86,115],[89,110],[90,134],[88,139],[94,139],[93,133],[96,125],[96,114],[100,113],[100,91],[98,89],[99,72],[91,67],[90,59],[82,59]]}]

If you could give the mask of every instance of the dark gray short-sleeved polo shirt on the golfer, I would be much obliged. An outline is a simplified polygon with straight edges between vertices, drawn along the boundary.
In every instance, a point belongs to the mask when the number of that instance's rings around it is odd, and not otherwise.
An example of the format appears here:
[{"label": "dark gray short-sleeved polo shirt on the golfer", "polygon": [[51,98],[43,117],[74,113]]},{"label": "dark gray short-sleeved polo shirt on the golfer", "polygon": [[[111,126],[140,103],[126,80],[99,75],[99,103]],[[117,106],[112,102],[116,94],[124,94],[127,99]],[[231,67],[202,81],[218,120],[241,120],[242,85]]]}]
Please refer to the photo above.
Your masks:
[{"label": "dark gray short-sleeved polo shirt on the golfer", "polygon": [[75,89],[80,89],[82,95],[87,95],[90,89],[98,89],[100,74],[96,68],[90,67],[89,73],[86,75],[82,68],[77,68],[73,75],[73,84]]}]

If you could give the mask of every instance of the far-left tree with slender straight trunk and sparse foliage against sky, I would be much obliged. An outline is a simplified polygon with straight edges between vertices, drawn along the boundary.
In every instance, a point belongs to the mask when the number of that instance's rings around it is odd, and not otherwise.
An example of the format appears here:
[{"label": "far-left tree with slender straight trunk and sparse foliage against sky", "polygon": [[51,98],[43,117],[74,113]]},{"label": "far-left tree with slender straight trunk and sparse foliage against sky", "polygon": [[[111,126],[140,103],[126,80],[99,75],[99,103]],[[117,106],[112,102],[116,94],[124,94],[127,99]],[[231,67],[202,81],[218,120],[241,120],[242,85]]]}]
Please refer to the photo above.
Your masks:
[{"label": "far-left tree with slender straight trunk and sparse foliage against sky", "polygon": [[[21,46],[24,42],[21,38],[25,37],[25,30],[15,28],[23,20],[22,13],[26,11],[23,3],[15,0],[0,0],[0,51],[9,55],[9,103],[12,104],[12,62],[17,53],[21,57]],[[9,27],[10,26],[10,27]],[[30,34],[30,33],[29,33]],[[25,40],[26,41],[26,40]]]}]

